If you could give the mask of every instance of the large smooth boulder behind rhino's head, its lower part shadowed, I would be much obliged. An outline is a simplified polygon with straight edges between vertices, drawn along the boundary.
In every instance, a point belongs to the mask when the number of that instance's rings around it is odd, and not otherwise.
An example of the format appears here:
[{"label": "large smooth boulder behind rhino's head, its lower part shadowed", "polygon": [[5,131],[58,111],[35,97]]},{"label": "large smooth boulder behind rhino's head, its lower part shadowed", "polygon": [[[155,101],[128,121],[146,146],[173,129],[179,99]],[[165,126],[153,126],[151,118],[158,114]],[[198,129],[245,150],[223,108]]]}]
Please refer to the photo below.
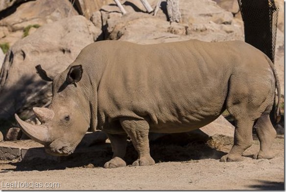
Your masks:
[{"label": "large smooth boulder behind rhino's head, its lower part shadowed", "polygon": [[[0,118],[16,111],[24,118],[35,106],[45,106],[51,98],[50,83],[41,80],[35,66],[63,71],[101,33],[83,16],[73,16],[38,28],[17,41],[8,51],[0,73]],[[28,112],[28,113],[27,113]]]}]

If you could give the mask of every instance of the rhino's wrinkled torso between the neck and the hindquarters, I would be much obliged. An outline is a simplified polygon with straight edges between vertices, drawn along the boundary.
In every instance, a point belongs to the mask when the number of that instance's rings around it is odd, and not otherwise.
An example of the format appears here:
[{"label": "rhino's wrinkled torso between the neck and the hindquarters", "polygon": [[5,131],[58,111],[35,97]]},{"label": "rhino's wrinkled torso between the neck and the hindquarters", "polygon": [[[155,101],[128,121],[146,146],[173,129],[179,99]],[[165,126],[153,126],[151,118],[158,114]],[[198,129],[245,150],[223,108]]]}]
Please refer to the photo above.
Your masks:
[{"label": "rhino's wrinkled torso between the neck and the hindquarters", "polygon": [[153,132],[204,126],[224,109],[236,54],[228,43],[116,42],[98,88],[101,119],[144,118]]}]

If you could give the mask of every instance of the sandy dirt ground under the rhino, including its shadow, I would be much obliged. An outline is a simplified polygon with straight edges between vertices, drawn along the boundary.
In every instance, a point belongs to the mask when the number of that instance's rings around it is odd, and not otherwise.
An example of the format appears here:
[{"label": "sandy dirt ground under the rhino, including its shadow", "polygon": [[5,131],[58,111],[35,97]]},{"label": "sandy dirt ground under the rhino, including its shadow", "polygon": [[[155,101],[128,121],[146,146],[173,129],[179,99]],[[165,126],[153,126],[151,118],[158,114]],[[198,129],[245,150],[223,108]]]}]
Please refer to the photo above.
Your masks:
[{"label": "sandy dirt ground under the rhino, including its shadow", "polygon": [[[276,138],[271,160],[254,160],[259,140],[245,151],[243,162],[221,163],[219,158],[231,148],[221,140],[207,142],[150,143],[153,166],[132,167],[136,159],[129,143],[127,167],[105,169],[111,158],[109,143],[98,145],[105,150],[96,154],[71,155],[57,162],[1,161],[1,190],[285,190],[284,136]],[[22,185],[27,188],[15,186]],[[12,187],[7,187],[13,183]],[[42,183],[43,188],[37,188]],[[54,184],[56,183],[56,184]],[[58,184],[57,184],[58,183]],[[48,185],[45,187],[45,185]],[[11,186],[11,184],[10,184]],[[50,186],[50,188],[48,188]],[[53,186],[53,187],[52,187]]]}]

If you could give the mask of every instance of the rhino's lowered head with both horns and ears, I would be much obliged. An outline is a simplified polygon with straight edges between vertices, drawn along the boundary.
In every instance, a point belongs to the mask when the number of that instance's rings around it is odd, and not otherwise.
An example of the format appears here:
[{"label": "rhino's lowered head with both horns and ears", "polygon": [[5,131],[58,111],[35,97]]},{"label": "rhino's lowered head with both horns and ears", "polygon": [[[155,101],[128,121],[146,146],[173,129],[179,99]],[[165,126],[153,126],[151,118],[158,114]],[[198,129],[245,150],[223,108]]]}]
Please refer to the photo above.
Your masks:
[{"label": "rhino's lowered head with both horns and ears", "polygon": [[90,124],[87,87],[80,83],[82,66],[71,66],[60,74],[48,74],[40,65],[36,69],[43,80],[52,81],[51,104],[49,108],[33,108],[41,125],[29,124],[17,114],[16,120],[27,136],[45,145],[49,154],[70,155]]}]

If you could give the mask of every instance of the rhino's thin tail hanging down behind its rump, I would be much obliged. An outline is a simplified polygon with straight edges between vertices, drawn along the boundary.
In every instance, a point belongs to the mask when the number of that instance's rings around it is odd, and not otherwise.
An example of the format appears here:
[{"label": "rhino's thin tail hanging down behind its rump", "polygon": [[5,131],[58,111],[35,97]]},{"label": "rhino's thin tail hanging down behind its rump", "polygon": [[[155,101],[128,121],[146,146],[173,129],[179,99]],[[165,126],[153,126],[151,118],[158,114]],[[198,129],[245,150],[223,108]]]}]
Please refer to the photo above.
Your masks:
[{"label": "rhino's thin tail hanging down behind its rump", "polygon": [[[275,113],[274,113],[274,119],[275,119],[275,122],[278,123],[281,119],[281,111],[280,111],[280,105],[281,105],[281,101],[280,101],[280,98],[281,98],[281,88],[280,88],[280,82],[279,82],[279,78],[278,78],[278,74],[277,74],[277,71],[274,67],[274,64],[272,63],[272,61],[268,58],[268,56],[266,56],[266,60],[268,61],[272,71],[273,71],[273,74],[274,74],[274,77],[275,77],[275,87],[277,89],[277,95],[278,95],[278,102],[277,102],[277,106],[275,104],[275,99],[274,99],[274,106],[276,107],[275,108]],[[274,97],[275,98],[275,97]]]}]

